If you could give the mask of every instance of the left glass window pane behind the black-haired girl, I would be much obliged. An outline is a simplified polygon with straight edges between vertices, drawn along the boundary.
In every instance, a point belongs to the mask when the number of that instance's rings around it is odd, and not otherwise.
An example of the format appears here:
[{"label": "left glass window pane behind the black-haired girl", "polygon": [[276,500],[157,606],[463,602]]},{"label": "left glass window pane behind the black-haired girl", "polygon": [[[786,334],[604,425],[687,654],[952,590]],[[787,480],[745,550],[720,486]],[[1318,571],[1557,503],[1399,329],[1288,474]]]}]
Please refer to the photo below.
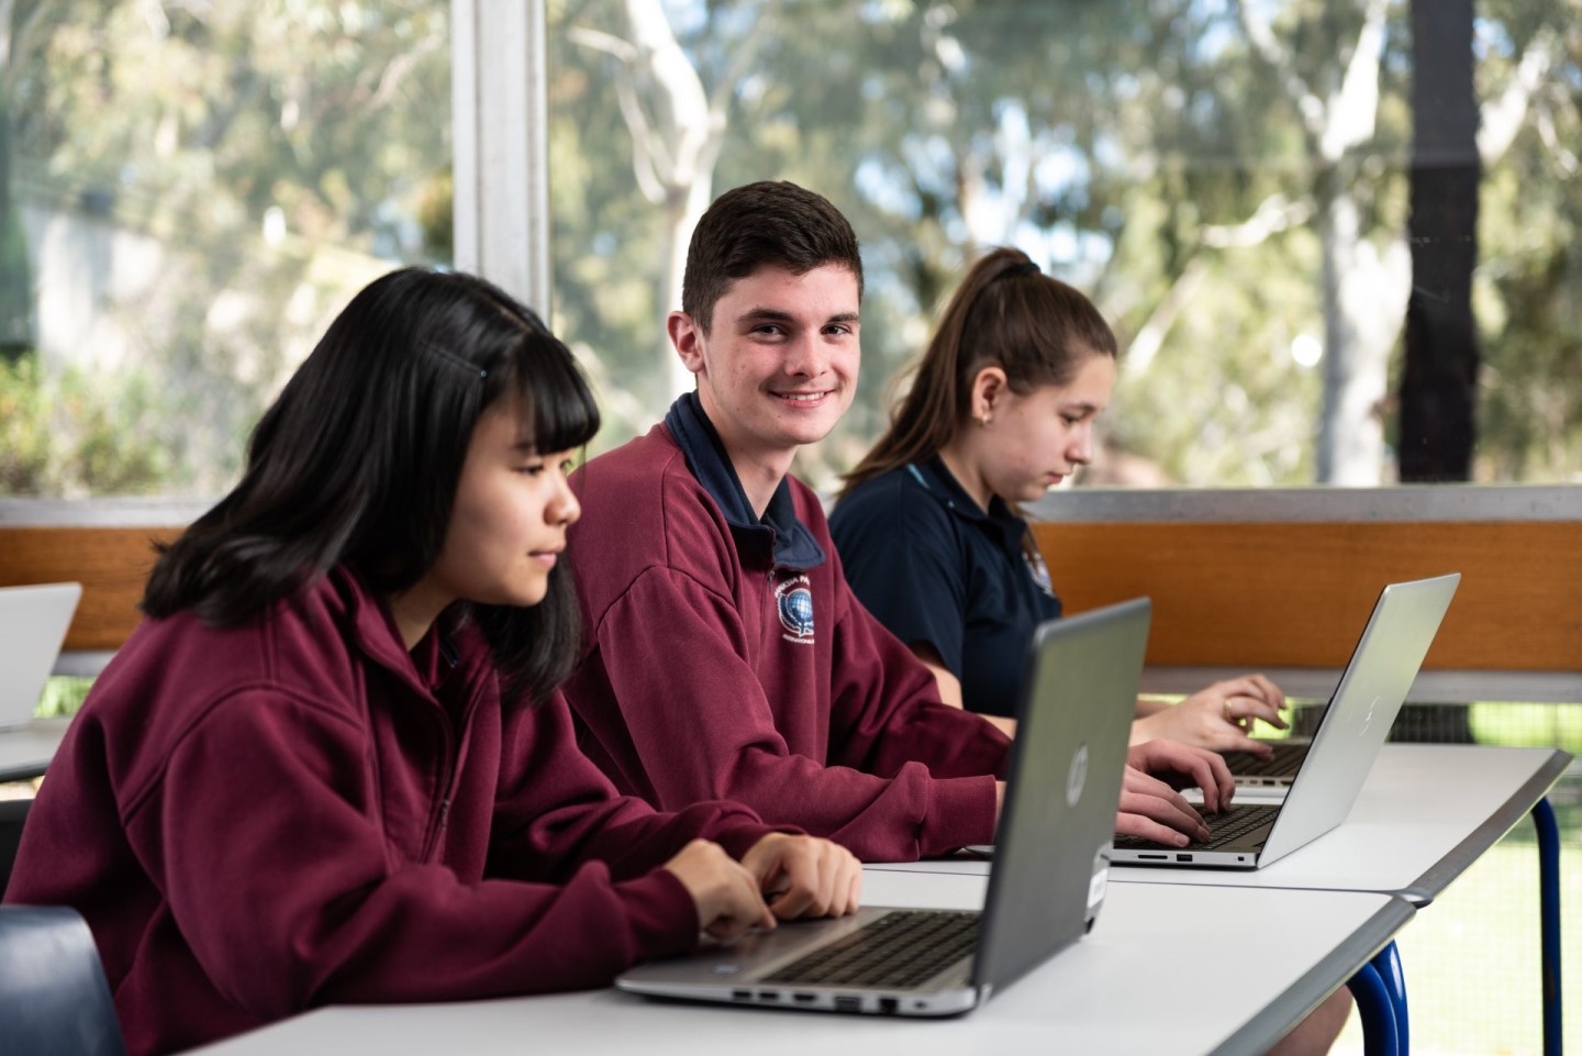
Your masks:
[{"label": "left glass window pane behind the black-haired girl", "polygon": [[0,494],[217,496],[358,288],[451,256],[445,0],[0,2]]}]

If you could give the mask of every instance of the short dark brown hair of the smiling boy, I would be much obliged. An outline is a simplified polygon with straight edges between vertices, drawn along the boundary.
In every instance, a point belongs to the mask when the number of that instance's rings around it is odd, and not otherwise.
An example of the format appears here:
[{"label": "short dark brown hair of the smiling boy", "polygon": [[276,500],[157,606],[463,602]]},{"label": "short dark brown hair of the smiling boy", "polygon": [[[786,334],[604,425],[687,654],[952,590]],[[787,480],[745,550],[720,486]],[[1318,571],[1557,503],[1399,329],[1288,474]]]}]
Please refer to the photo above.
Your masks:
[{"label": "short dark brown hair of the smiling boy", "polygon": [[687,247],[682,310],[707,334],[715,302],[764,264],[796,275],[826,264],[846,268],[862,296],[862,258],[846,217],[823,195],[766,180],[725,192],[698,220]]}]

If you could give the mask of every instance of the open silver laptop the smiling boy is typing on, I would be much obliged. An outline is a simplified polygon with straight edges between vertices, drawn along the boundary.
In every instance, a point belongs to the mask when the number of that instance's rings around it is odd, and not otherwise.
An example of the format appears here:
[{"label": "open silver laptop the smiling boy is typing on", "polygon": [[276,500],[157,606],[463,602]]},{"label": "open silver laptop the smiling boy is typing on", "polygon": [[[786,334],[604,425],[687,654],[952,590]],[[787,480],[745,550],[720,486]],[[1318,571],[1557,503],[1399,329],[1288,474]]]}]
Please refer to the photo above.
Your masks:
[{"label": "open silver laptop the smiling boy is typing on", "polygon": [[1340,825],[1389,735],[1460,573],[1392,583],[1380,592],[1362,638],[1280,803],[1239,803],[1209,814],[1213,834],[1186,847],[1117,836],[1117,864],[1258,869]]}]

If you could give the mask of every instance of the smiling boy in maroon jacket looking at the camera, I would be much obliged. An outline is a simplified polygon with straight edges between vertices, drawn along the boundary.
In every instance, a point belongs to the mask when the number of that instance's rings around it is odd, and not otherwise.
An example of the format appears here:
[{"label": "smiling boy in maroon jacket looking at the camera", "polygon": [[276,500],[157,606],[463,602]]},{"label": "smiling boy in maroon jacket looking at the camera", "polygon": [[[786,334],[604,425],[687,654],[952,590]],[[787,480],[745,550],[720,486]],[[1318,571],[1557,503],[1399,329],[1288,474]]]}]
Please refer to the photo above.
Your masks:
[{"label": "smiling boy in maroon jacket looking at the camera", "polygon": [[[565,695],[623,792],[661,809],[736,800],[899,861],[993,839],[1008,741],[941,705],[856,602],[818,497],[789,475],[851,405],[861,299],[857,239],[813,192],[750,184],[699,220],[668,320],[698,388],[573,477],[587,646]],[[1153,744],[1133,762],[1210,801],[1229,787],[1205,754]],[[1141,773],[1123,804],[1128,831],[1201,828]]]}]

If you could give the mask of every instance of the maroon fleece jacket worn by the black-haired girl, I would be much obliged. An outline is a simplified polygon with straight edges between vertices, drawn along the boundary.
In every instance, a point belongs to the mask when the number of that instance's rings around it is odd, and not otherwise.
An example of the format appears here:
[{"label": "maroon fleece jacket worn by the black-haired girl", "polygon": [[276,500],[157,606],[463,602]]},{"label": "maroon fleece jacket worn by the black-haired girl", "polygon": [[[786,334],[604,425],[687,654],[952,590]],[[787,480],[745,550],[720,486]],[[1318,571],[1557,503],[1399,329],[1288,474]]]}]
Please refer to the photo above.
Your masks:
[{"label": "maroon fleece jacket worn by the black-haired girl", "polygon": [[655,866],[769,830],[617,798],[558,697],[501,706],[481,636],[451,641],[408,654],[337,570],[253,625],[146,621],[104,670],[6,901],[84,914],[131,1056],[329,1002],[598,986],[694,945]]}]

